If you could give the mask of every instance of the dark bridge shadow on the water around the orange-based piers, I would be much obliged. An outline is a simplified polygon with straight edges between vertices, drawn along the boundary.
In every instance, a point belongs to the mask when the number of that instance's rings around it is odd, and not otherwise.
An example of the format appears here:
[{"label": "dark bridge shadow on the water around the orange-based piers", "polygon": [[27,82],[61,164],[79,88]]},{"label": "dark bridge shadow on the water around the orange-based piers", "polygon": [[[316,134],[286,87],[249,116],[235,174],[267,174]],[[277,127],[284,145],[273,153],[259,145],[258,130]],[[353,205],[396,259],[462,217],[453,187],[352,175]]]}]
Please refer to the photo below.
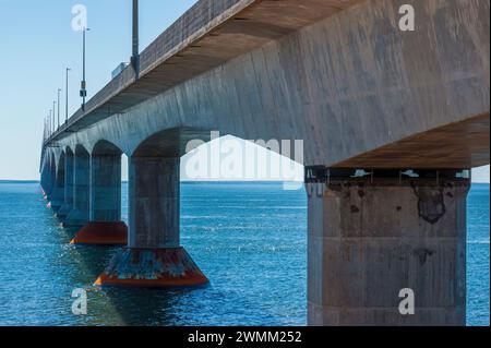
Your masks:
[{"label": "dark bridge shadow on the water around the orange-based piers", "polygon": [[[146,289],[98,287],[94,281],[108,265],[120,247],[70,245],[76,230],[62,228],[62,242],[67,242],[65,257],[75,263],[69,283],[73,288],[87,291],[87,316],[83,325],[175,325],[179,321],[178,308],[183,293],[193,289]],[[63,233],[65,236],[63,236]]]}]

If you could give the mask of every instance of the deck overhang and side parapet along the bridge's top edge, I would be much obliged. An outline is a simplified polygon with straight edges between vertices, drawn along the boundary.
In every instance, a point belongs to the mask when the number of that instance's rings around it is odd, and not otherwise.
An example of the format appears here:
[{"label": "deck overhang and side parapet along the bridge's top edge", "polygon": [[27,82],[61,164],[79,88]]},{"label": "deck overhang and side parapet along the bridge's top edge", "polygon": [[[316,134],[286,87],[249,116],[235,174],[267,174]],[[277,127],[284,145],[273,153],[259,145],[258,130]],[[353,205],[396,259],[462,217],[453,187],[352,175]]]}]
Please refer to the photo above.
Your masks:
[{"label": "deck overhang and side parapet along the bridge's top edge", "polygon": [[[199,1],[61,130],[77,131],[123,112],[243,53],[334,15],[361,0]],[[166,50],[167,49],[167,50]],[[60,137],[64,136],[60,132]]]}]

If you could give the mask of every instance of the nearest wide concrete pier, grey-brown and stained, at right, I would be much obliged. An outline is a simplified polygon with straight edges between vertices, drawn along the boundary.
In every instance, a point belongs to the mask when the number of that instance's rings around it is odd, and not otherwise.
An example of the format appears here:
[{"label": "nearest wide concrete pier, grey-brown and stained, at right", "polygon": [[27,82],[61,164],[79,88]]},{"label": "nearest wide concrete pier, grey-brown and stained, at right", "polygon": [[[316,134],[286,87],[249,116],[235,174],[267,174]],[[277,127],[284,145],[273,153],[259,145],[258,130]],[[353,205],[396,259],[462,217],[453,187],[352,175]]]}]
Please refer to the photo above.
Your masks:
[{"label": "nearest wide concrete pier, grey-brown and stained, at right", "polygon": [[468,171],[311,167],[306,182],[310,325],[465,325]]}]

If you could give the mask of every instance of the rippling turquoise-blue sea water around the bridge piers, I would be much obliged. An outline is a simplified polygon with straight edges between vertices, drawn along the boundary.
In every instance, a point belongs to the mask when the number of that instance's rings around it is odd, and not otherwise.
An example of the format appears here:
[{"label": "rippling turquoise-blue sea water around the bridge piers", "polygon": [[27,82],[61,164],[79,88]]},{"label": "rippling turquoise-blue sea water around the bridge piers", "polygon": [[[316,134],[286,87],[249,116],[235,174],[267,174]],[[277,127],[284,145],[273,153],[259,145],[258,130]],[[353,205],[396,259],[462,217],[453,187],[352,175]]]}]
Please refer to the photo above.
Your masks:
[{"label": "rippling turquoise-blue sea water around the bridge piers", "polygon": [[[123,185],[123,216],[128,216]],[[489,325],[489,185],[468,209],[469,325]],[[115,248],[73,247],[37,183],[0,183],[0,325],[304,325],[307,199],[279,183],[185,183],[182,244],[212,284],[100,289]],[[88,313],[72,314],[72,290]]]}]

